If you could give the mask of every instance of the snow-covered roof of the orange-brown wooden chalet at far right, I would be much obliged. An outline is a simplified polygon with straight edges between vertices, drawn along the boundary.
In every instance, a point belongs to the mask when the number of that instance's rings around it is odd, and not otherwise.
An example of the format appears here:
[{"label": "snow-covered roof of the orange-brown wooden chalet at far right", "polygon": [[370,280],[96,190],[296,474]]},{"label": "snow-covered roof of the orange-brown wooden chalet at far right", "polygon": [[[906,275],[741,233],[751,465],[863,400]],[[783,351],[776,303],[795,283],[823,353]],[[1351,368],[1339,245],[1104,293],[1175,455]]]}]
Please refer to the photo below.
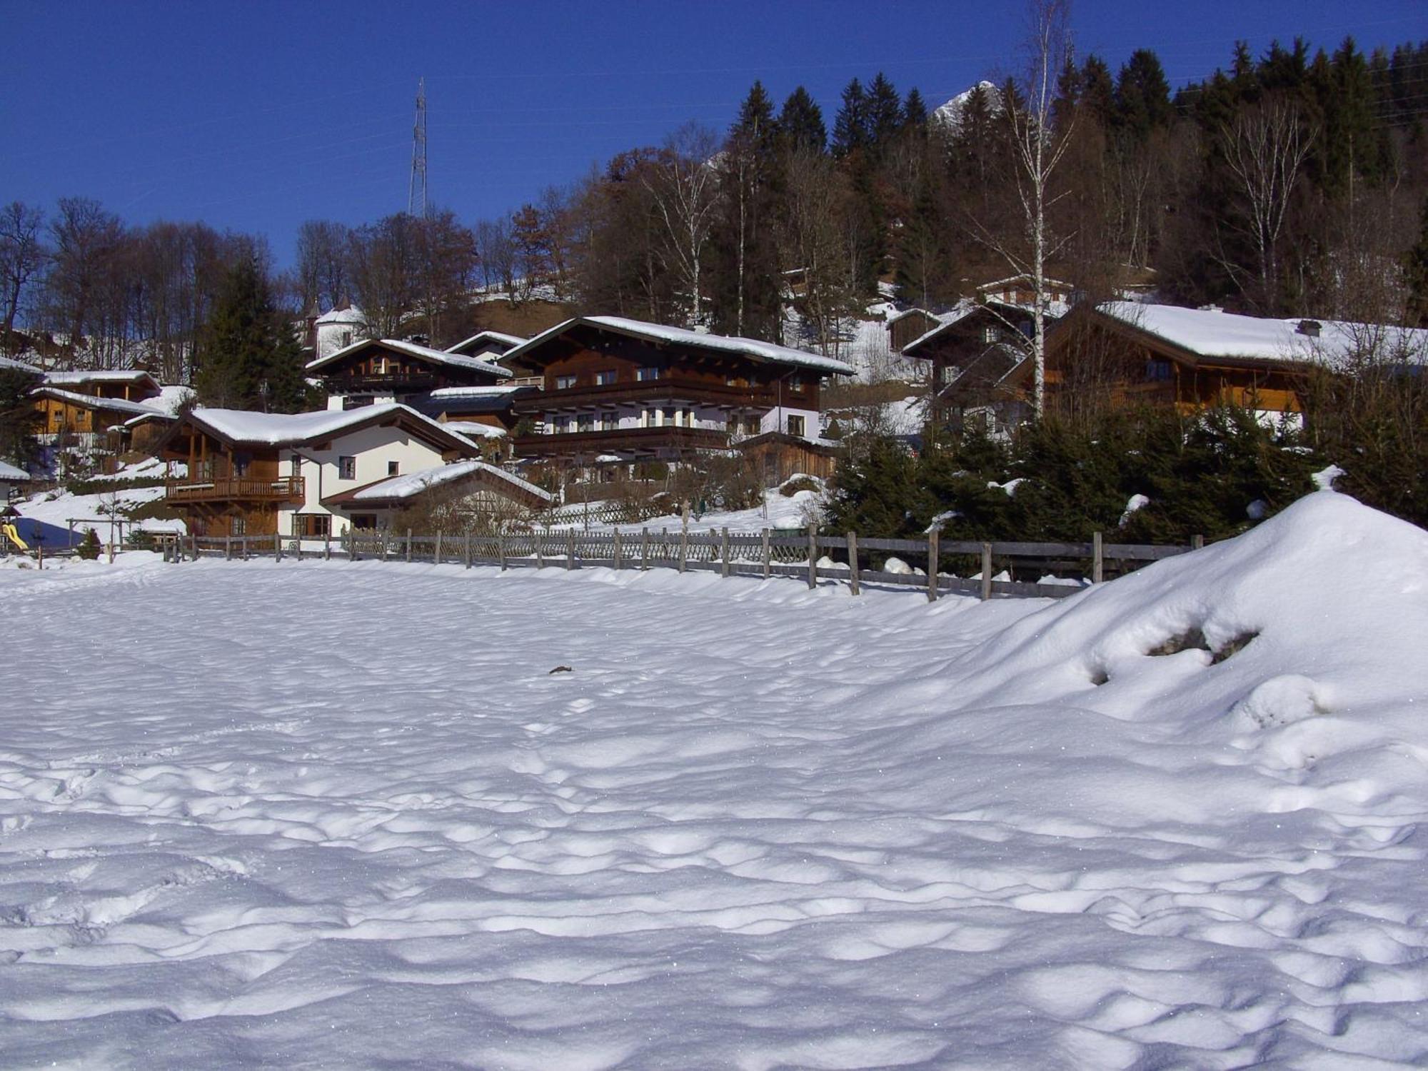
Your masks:
[{"label": "snow-covered roof of the orange-brown wooden chalet at far right", "polygon": [[[1338,367],[1372,348],[1385,360],[1409,364],[1428,361],[1428,330],[1424,328],[1307,317],[1272,320],[1217,308],[1135,301],[1108,301],[1098,308],[1198,357],[1324,363]],[[1317,324],[1318,336],[1305,334],[1299,330],[1301,324]]]}]

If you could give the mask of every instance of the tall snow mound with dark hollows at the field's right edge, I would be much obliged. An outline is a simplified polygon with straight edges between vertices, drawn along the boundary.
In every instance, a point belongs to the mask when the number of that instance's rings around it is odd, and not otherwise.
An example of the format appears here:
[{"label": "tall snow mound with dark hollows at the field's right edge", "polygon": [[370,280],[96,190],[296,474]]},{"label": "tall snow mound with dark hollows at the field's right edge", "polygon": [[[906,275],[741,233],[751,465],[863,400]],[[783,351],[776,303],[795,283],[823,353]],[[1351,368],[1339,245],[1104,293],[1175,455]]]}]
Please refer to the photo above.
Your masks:
[{"label": "tall snow mound with dark hollows at the field's right edge", "polygon": [[1428,533],[1319,491],[1017,621],[960,657],[960,705],[1068,700],[1268,728],[1421,697],[1428,673],[1408,667],[1425,664],[1425,635]]}]

